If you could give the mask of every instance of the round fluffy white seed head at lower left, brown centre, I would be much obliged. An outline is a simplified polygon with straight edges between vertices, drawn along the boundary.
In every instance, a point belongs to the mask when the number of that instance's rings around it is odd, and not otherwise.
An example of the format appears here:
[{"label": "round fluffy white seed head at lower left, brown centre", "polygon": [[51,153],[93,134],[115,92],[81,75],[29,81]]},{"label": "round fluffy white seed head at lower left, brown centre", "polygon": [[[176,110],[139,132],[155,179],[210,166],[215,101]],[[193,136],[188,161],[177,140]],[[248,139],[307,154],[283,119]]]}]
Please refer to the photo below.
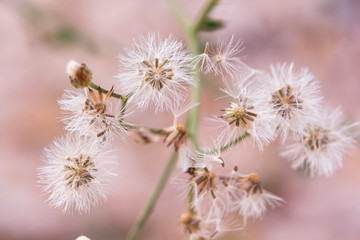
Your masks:
[{"label": "round fluffy white seed head at lower left, brown centre", "polygon": [[45,148],[45,166],[39,169],[40,182],[50,194],[51,206],[63,212],[88,212],[106,199],[112,157],[97,139],[66,135]]}]

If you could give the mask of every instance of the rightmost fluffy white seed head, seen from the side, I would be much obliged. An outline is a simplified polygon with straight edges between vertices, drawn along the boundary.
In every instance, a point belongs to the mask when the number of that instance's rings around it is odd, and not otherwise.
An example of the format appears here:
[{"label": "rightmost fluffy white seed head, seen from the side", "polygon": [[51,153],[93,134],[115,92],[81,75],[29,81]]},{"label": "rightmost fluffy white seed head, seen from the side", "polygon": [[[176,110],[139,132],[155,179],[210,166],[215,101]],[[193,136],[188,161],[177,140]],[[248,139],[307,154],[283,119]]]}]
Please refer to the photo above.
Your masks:
[{"label": "rightmost fluffy white seed head, seen from the side", "polygon": [[351,128],[358,123],[343,123],[339,108],[319,115],[316,124],[311,124],[299,136],[300,141],[282,153],[289,158],[292,168],[304,170],[311,176],[331,176],[342,167],[343,154],[354,147]]}]

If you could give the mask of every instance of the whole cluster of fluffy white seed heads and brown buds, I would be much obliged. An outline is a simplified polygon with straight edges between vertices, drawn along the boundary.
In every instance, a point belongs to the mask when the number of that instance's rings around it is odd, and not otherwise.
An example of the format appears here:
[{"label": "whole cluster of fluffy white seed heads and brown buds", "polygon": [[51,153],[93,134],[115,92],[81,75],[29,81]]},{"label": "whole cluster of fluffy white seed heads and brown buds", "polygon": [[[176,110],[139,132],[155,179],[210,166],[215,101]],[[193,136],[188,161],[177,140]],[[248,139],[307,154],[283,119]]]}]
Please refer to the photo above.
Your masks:
[{"label": "whole cluster of fluffy white seed heads and brown buds", "polygon": [[[266,74],[247,66],[238,56],[242,50],[242,42],[233,36],[216,46],[206,43],[204,53],[191,56],[174,37],[148,34],[119,55],[118,80],[109,90],[92,82],[85,64],[70,61],[70,83],[84,90],[68,90],[59,100],[68,133],[44,150],[39,177],[50,205],[81,213],[106,199],[114,176],[113,156],[107,149],[128,138],[139,144],[162,140],[174,149],[187,177],[180,180],[188,202],[179,220],[193,240],[242,230],[248,219],[261,219],[268,208],[284,202],[262,188],[257,173],[241,174],[236,166],[219,173],[218,168],[227,167],[222,152],[236,150],[241,141],[262,151],[278,136],[282,143],[290,139],[295,143],[284,147],[281,155],[294,169],[312,177],[331,176],[342,166],[345,151],[354,146],[351,132],[357,123],[346,124],[340,109],[327,110],[319,83],[307,68],[277,64]],[[196,68],[220,78],[220,99],[228,100],[208,119],[217,131],[210,148],[198,144],[199,103],[189,101]],[[129,123],[129,106],[170,112],[173,123],[159,129]]]}]

